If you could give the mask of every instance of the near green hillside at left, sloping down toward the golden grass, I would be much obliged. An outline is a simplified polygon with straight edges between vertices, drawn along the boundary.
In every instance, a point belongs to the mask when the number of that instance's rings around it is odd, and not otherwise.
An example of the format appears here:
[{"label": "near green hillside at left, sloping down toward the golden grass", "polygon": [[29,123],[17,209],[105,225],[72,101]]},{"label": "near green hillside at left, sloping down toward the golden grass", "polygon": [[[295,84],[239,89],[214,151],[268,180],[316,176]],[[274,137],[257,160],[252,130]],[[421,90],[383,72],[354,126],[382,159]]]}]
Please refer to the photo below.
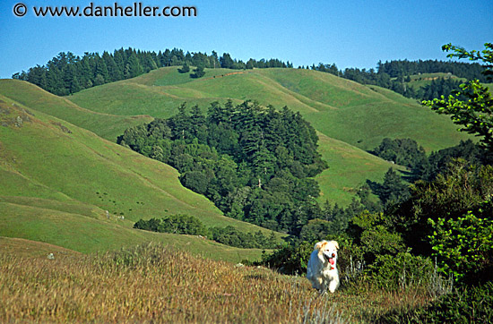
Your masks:
[{"label": "near green hillside at left, sloping down toward the golden grass", "polygon": [[[29,96],[46,94],[36,89]],[[259,230],[222,216],[209,200],[182,187],[175,169],[2,95],[0,124],[0,236],[77,252],[157,240],[216,259],[260,255],[198,237],[132,228],[140,218],[185,213],[205,226]]]}]

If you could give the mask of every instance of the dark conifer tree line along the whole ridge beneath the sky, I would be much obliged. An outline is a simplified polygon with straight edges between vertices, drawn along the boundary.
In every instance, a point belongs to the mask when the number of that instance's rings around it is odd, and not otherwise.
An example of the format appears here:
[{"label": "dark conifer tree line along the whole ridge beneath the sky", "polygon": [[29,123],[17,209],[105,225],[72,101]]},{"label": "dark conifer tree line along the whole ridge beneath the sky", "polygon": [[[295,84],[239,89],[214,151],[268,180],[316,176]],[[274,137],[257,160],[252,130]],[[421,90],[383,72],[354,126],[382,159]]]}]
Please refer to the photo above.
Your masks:
[{"label": "dark conifer tree line along the whole ridge beneath the sky", "polygon": [[[279,59],[255,60],[247,62],[231,57],[229,53],[219,56],[215,51],[206,53],[184,52],[182,49],[166,49],[158,53],[141,51],[134,48],[120,48],[113,53],[85,53],[78,56],[71,52],[62,52],[53,57],[45,65],[36,65],[27,72],[13,74],[13,79],[29,81],[58,96],[67,96],[108,82],[134,78],[145,72],[150,72],[164,66],[182,66],[180,72],[188,72],[189,66],[195,66],[194,78],[203,76],[204,68],[254,69],[254,68],[292,68],[289,61],[284,63]],[[301,68],[301,66],[299,66]],[[415,90],[407,82],[410,75],[429,72],[450,72],[459,78],[479,79],[486,81],[481,73],[481,64],[464,64],[459,62],[444,62],[437,60],[408,61],[396,60],[378,62],[375,69],[346,68],[339,70],[335,64],[313,64],[312,70],[329,72],[342,78],[357,81],[362,84],[374,84],[394,90],[408,98],[431,99],[441,95],[447,97],[453,90],[458,89],[460,81],[450,78],[440,78],[432,81],[424,88]]]}]

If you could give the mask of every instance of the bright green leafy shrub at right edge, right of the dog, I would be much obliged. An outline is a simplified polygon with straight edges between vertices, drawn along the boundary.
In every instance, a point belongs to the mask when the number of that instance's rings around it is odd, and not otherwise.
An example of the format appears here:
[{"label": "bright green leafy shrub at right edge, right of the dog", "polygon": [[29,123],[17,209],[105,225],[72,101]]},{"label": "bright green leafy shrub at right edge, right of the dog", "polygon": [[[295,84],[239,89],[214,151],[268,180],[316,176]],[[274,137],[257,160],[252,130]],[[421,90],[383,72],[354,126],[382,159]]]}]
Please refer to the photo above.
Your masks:
[{"label": "bright green leafy shrub at right edge, right of the dog", "polygon": [[[486,204],[485,204],[486,205]],[[456,280],[464,276],[489,276],[493,270],[493,217],[491,201],[489,206],[481,207],[475,216],[471,210],[463,217],[437,221],[428,219],[433,234],[429,240],[433,246],[432,256],[437,257],[439,269],[445,275],[453,275]]]}]

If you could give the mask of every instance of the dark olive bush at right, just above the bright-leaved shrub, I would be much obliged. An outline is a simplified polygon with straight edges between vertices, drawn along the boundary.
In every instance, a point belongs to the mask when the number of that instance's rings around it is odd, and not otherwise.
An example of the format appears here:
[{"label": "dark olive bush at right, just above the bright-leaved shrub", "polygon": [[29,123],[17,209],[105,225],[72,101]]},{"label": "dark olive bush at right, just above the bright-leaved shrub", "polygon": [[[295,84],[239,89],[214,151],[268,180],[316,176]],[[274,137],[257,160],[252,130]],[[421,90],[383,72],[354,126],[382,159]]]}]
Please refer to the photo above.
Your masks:
[{"label": "dark olive bush at right, just above the bright-leaved shrub", "polygon": [[389,213],[406,245],[430,255],[433,251],[428,236],[433,228],[428,219],[437,224],[438,218],[457,220],[470,210],[476,215],[492,194],[493,166],[470,166],[455,160],[434,181],[411,185],[411,198]]}]

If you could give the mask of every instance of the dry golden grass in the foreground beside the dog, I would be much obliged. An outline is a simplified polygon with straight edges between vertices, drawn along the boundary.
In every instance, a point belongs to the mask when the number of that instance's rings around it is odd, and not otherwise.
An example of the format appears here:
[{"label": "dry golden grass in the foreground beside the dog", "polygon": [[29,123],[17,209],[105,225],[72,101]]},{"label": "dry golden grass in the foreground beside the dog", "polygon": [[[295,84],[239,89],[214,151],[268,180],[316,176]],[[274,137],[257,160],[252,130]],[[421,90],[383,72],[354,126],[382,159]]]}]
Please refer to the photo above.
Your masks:
[{"label": "dry golden grass in the foreground beside the dog", "polygon": [[55,260],[0,254],[0,322],[6,323],[361,322],[396,304],[410,303],[343,289],[319,296],[304,277],[195,258],[160,244]]}]

